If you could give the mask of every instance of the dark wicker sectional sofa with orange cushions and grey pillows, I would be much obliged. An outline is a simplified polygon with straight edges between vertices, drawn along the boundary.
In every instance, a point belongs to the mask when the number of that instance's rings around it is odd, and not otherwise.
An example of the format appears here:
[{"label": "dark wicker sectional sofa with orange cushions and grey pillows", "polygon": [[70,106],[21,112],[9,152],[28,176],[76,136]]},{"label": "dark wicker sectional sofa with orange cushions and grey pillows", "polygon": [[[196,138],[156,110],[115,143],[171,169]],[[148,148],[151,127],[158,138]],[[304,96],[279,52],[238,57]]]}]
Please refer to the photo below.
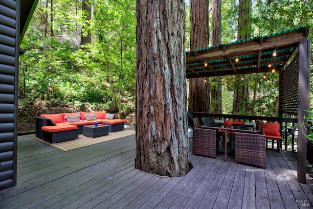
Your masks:
[{"label": "dark wicker sectional sofa with orange cushions and grey pillows", "polygon": [[83,126],[95,122],[109,126],[109,132],[124,129],[126,120],[114,119],[114,114],[104,112],[78,112],[41,114],[36,117],[36,137],[50,143],[77,139]]}]

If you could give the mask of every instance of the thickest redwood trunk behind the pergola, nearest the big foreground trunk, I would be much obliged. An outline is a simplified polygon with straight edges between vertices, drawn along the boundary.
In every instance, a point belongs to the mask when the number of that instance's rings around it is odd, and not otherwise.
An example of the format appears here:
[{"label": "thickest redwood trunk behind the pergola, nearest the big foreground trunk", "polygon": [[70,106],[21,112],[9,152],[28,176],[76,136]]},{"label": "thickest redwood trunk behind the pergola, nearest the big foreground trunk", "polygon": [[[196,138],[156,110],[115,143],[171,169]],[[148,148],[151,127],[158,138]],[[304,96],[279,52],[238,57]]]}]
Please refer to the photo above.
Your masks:
[{"label": "thickest redwood trunk behind the pergola, nearest the big foreground trunk", "polygon": [[[190,0],[190,50],[209,45],[209,1]],[[210,112],[210,84],[208,78],[189,79],[188,110]]]}]

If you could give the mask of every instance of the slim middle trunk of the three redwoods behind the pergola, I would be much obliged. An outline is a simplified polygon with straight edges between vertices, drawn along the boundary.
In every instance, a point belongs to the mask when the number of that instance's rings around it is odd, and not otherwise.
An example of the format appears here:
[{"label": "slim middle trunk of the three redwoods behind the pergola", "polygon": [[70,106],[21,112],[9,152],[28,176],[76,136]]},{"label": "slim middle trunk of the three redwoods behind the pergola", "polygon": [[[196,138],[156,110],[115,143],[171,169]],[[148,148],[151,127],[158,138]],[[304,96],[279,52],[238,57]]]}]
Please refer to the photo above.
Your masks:
[{"label": "slim middle trunk of the three redwoods behind the pergola", "polygon": [[[213,0],[212,6],[212,46],[221,44],[222,40],[222,0]],[[222,113],[222,78],[215,76],[210,79],[211,112]]]}]

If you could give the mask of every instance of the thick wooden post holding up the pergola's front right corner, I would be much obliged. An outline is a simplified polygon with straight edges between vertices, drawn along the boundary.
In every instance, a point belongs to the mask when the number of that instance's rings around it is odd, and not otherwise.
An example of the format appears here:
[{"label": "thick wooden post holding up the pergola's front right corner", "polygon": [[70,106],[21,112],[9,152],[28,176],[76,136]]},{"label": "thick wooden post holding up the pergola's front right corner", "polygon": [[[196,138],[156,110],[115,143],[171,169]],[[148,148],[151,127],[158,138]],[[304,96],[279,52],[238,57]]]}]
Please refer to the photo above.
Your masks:
[{"label": "thick wooden post holding up the pergola's front right corner", "polygon": [[307,139],[306,130],[301,127],[310,110],[310,41],[304,40],[299,45],[299,104],[298,104],[298,182],[306,184]]}]

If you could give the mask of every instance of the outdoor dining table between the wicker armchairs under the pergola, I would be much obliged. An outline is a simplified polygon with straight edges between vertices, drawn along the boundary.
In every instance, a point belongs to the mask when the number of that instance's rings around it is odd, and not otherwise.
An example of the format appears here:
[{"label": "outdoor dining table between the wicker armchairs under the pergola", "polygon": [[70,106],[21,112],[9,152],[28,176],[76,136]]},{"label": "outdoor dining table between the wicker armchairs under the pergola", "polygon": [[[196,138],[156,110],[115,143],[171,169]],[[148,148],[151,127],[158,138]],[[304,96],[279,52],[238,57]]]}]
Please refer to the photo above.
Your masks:
[{"label": "outdoor dining table between the wicker armchairs under the pergola", "polygon": [[207,129],[216,129],[217,131],[219,130],[224,130],[225,131],[225,149],[224,149],[224,161],[227,161],[228,154],[227,153],[227,135],[232,133],[234,134],[235,132],[243,132],[243,133],[253,133],[257,134],[260,131],[256,130],[254,126],[252,125],[231,125],[231,126],[224,126],[222,123],[209,123],[205,124],[205,126],[201,126],[201,128],[207,128]]}]

